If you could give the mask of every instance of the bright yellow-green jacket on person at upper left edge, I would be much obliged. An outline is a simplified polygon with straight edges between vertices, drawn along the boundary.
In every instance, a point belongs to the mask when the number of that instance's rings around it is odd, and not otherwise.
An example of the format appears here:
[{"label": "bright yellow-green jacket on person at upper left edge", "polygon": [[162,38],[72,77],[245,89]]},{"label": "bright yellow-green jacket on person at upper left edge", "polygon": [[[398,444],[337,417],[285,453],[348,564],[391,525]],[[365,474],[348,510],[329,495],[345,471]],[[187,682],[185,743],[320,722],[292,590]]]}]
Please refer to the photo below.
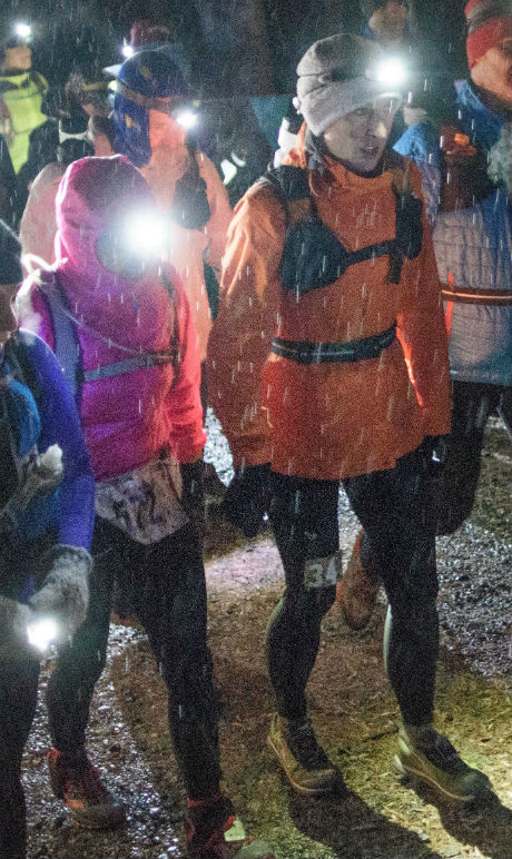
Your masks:
[{"label": "bright yellow-green jacket on person at upper left edge", "polygon": [[48,82],[37,71],[0,75],[0,97],[6,102],[12,135],[7,138],[14,172],[19,172],[29,156],[30,132],[48,120],[41,111]]}]

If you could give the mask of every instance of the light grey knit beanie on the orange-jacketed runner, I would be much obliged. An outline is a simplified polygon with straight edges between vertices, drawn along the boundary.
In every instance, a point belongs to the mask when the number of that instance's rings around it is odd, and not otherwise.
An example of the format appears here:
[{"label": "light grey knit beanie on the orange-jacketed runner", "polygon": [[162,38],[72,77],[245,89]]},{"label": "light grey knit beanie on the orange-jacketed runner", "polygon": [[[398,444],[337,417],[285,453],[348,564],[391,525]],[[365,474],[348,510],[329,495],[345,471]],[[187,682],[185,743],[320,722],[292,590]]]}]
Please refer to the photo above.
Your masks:
[{"label": "light grey knit beanie on the orange-jacketed runner", "polygon": [[401,98],[388,81],[378,79],[384,58],[376,42],[352,33],[336,33],[311,46],[297,66],[294,105],[315,137],[376,98]]}]

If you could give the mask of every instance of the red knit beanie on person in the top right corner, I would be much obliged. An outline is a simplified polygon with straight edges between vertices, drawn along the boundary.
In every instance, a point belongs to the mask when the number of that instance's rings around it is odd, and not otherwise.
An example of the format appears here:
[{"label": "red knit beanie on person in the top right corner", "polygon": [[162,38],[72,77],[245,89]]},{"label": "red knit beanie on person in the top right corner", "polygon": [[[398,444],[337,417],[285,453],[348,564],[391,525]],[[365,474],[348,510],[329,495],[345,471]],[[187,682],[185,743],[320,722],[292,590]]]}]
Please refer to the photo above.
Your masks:
[{"label": "red knit beanie on person in the top right corner", "polygon": [[510,0],[470,0],[464,14],[467,22],[467,65],[472,69],[491,48],[512,37]]}]

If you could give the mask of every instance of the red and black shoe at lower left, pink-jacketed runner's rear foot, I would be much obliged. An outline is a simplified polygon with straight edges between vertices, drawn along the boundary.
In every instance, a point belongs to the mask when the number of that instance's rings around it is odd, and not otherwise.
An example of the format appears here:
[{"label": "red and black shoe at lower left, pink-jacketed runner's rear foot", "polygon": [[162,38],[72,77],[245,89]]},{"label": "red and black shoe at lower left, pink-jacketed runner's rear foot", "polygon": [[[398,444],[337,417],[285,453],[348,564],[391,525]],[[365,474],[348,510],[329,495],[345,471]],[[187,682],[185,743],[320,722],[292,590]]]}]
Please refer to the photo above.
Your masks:
[{"label": "red and black shoe at lower left, pink-jacketed runner's rear foot", "polygon": [[47,762],[51,790],[66,802],[75,822],[87,829],[114,829],[126,822],[125,806],[105,787],[85,751],[70,763],[50,749]]}]

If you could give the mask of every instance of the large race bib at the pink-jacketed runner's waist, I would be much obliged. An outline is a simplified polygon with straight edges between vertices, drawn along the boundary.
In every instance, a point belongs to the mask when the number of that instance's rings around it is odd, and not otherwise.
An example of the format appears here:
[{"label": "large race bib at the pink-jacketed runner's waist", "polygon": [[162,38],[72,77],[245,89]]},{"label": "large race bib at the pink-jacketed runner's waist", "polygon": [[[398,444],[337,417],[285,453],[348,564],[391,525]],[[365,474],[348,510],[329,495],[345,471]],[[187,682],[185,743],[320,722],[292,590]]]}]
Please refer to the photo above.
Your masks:
[{"label": "large race bib at the pink-jacketed runner's waist", "polygon": [[179,465],[167,456],[96,484],[96,513],[131,540],[157,543],[189,522]]}]

